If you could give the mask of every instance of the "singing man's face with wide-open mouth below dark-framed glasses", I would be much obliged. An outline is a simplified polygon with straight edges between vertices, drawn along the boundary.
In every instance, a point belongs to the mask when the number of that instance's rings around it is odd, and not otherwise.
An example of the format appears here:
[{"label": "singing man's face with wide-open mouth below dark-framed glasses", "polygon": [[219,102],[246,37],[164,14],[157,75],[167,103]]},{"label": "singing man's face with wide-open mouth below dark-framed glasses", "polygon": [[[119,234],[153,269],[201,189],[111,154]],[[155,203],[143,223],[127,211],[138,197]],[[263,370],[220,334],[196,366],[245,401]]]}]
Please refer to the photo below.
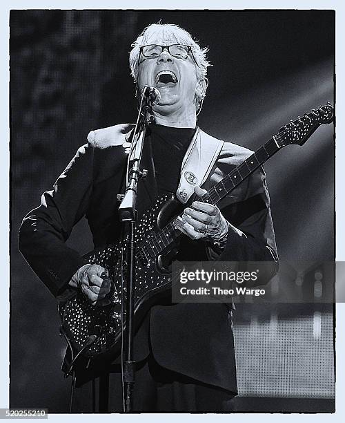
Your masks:
[{"label": "singing man's face with wide-open mouth below dark-framed glasses", "polygon": [[[146,44],[169,46],[179,43],[176,39],[162,40],[161,37],[152,35],[146,40]],[[140,92],[144,85],[155,86],[159,90],[161,100],[154,106],[154,110],[159,113],[164,115],[174,111],[195,113],[197,72],[196,64],[190,54],[186,59],[173,57],[167,49],[155,58],[144,57],[141,54],[137,83]]]}]

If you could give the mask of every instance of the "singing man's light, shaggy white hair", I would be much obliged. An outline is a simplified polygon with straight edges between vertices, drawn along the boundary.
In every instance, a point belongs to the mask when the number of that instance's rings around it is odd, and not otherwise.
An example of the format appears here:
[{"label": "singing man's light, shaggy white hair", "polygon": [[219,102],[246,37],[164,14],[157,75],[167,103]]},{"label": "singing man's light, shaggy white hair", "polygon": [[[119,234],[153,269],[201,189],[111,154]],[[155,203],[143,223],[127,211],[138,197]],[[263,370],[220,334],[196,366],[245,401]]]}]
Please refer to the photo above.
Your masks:
[{"label": "singing man's light, shaggy white hair", "polygon": [[[139,55],[140,55],[140,47],[145,46],[146,44],[150,44],[150,37],[152,35],[159,36],[160,39],[168,40],[168,41],[176,41],[177,44],[184,44],[186,46],[190,46],[192,48],[193,57],[197,64],[196,72],[197,72],[197,80],[200,81],[201,79],[206,79],[206,87],[207,87],[207,68],[210,65],[208,59],[206,58],[206,53],[208,52],[208,48],[201,48],[197,41],[195,41],[190,35],[190,33],[178,25],[174,25],[172,23],[152,23],[152,25],[147,26],[143,32],[137,37],[137,39],[132,44],[132,50],[130,50],[130,72],[132,77],[134,78],[135,82],[137,82],[137,75],[138,75],[138,64],[139,64]],[[200,109],[202,101],[205,97],[205,92],[202,95],[197,97],[196,106],[197,109]]]}]

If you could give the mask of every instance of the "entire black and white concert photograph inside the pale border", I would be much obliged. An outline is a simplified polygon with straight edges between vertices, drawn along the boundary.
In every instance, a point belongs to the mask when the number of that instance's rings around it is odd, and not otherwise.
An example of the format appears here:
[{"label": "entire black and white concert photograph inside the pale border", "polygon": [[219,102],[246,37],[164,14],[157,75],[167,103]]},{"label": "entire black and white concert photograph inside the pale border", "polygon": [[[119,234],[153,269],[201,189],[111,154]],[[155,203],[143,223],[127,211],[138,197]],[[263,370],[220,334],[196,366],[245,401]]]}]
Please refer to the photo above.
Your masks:
[{"label": "entire black and white concert photograph inside the pale border", "polygon": [[11,409],[335,413],[335,19],[10,10]]}]

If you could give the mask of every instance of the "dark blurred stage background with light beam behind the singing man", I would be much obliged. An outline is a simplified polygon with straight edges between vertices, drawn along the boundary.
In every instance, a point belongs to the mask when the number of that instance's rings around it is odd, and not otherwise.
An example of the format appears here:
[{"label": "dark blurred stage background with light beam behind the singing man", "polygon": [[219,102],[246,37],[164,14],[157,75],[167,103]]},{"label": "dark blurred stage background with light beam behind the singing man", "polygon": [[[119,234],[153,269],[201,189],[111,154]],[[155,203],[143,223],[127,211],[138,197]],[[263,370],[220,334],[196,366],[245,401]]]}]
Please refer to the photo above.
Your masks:
[{"label": "dark blurred stage background with light beam behind the singing man", "polygon": [[[214,66],[199,126],[218,138],[257,149],[290,119],[333,102],[332,11],[13,10],[12,407],[63,412],[69,391],[59,370],[64,344],[57,303],[17,250],[21,219],[90,130],[135,120],[128,52],[139,32],[159,19],[179,24],[210,48]],[[282,261],[334,259],[334,158],[328,125],[304,147],[286,147],[266,164]],[[91,249],[86,222],[69,243],[81,252]],[[331,398],[332,308],[272,306],[267,313],[267,307],[237,310],[241,395]]]}]

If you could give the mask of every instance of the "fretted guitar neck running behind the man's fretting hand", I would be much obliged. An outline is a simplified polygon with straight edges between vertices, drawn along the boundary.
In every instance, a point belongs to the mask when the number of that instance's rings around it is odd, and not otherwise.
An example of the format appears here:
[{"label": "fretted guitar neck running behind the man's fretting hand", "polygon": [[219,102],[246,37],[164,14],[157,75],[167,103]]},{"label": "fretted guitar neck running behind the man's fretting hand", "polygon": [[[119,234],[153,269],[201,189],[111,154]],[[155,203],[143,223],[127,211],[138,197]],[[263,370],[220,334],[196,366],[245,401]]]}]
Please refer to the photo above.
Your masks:
[{"label": "fretted guitar neck running behind the man's fretting hand", "polygon": [[[224,179],[214,185],[206,192],[200,201],[217,205],[217,203],[242,183],[251,173],[258,167],[262,166],[270,157],[272,157],[280,149],[275,137],[271,138],[266,144],[260,147],[255,153],[248,157],[244,162],[235,167],[233,171],[228,173]],[[181,215],[180,215],[181,217]],[[174,219],[175,220],[175,219]],[[148,238],[142,248],[146,256],[157,256],[161,254],[172,242],[181,236],[181,231],[176,229],[172,222],[166,227]]]}]

